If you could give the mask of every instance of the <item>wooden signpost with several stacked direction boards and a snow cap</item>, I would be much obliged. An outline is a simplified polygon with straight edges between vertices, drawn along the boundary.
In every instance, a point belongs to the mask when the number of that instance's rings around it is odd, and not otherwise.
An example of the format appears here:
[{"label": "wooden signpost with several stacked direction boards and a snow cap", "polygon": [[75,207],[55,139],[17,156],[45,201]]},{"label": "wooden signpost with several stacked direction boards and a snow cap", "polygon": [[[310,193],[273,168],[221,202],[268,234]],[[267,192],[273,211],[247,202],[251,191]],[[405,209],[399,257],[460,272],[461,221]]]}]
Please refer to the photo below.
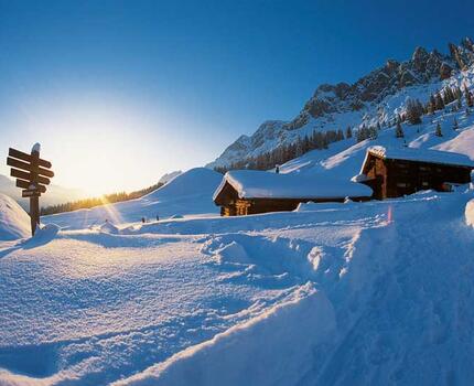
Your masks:
[{"label": "wooden signpost with several stacked direction boards and a snow cap", "polygon": [[22,197],[30,199],[31,234],[34,236],[40,224],[40,196],[54,176],[51,162],[40,158],[40,143],[33,146],[30,154],[10,148],[8,156],[10,175],[17,178],[17,186],[23,189]]}]

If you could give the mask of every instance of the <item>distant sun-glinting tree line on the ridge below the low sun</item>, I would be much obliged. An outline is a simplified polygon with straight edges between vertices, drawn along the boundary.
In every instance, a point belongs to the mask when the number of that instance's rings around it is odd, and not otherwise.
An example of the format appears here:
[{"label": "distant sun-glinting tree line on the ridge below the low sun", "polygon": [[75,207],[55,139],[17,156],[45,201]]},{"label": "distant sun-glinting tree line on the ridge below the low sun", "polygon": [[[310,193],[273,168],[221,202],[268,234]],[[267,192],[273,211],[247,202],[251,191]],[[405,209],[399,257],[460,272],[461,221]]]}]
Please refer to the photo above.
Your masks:
[{"label": "distant sun-glinting tree line on the ridge below the low sun", "polygon": [[112,204],[117,202],[140,199],[143,195],[151,193],[161,186],[163,186],[163,183],[159,182],[149,187],[141,189],[139,191],[134,191],[130,193],[118,192],[118,193],[111,193],[111,194],[104,194],[99,197],[83,199],[83,200],[66,202],[64,204],[50,205],[50,206],[42,207],[40,213],[42,216],[45,216],[49,214],[72,212],[77,210],[90,208],[94,206],[104,205],[108,203]]}]

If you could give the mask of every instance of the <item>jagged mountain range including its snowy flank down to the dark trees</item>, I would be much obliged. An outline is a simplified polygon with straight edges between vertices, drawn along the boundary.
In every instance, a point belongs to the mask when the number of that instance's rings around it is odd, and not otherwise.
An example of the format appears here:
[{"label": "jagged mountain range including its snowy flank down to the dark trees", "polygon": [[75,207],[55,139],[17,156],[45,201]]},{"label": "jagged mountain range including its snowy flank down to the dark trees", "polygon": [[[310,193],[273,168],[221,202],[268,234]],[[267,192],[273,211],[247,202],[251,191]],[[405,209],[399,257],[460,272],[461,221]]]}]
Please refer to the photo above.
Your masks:
[{"label": "jagged mountain range including its snowy flank down to the dark trees", "polygon": [[[408,97],[427,103],[444,84],[470,83],[474,44],[470,37],[449,44],[449,54],[417,47],[410,60],[387,63],[356,83],[323,84],[291,121],[265,121],[252,136],[240,136],[207,168],[228,168],[293,143],[314,131],[347,126],[388,124],[405,109]],[[472,73],[471,73],[472,74]],[[467,77],[467,78],[466,78]]]}]

